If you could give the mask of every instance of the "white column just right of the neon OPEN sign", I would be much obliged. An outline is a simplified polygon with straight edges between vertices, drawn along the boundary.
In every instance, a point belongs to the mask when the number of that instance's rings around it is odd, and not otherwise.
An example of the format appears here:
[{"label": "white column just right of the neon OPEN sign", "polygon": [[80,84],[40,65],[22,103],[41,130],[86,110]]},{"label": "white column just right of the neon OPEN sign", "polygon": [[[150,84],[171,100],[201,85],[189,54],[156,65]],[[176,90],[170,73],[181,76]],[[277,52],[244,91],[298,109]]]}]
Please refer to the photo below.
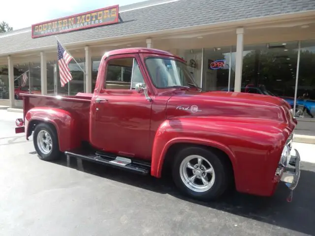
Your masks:
[{"label": "white column just right of the neon OPEN sign", "polygon": [[243,48],[244,48],[244,28],[236,29],[237,42],[236,42],[236,62],[235,62],[235,84],[234,91],[241,91],[242,84],[242,68],[243,68]]}]

